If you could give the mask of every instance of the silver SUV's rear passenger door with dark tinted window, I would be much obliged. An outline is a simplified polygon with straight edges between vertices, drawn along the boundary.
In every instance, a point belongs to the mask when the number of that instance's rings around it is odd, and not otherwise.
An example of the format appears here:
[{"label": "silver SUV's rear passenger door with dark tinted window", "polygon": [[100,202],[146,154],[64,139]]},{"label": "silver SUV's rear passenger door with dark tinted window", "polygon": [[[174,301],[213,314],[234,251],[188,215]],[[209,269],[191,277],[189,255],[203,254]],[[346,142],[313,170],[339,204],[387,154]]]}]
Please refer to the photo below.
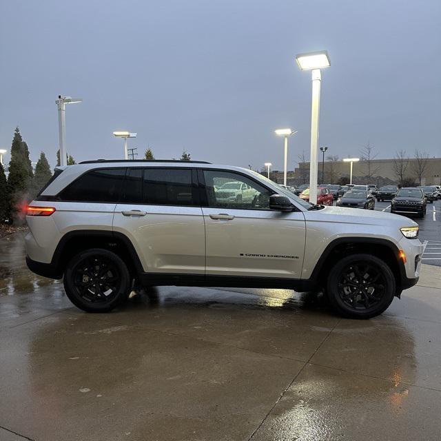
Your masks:
[{"label": "silver SUV's rear passenger door with dark tinted window", "polygon": [[196,170],[128,168],[113,229],[130,238],[146,272],[205,273],[205,227]]}]

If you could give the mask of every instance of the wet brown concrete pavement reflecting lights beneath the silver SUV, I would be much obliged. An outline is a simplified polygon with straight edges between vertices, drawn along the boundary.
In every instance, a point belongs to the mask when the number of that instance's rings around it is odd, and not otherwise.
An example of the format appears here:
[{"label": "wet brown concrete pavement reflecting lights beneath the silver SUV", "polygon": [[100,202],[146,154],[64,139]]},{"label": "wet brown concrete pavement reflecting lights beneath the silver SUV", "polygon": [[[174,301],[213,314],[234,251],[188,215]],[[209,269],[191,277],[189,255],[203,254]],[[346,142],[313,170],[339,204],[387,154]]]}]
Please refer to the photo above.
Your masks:
[{"label": "wet brown concrete pavement reflecting lights beneath the silver SUV", "polygon": [[0,240],[0,440],[439,440],[441,269],[385,314],[317,294],[160,287],[110,314]]}]

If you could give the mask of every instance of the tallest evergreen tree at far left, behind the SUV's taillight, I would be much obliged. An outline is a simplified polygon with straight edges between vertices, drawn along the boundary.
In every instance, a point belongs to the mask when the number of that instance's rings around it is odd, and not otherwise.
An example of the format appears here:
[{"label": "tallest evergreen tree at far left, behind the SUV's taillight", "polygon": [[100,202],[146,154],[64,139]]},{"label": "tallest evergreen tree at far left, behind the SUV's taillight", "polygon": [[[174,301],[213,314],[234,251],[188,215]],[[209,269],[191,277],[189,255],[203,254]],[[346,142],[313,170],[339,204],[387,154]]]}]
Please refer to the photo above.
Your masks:
[{"label": "tallest evergreen tree at far left, behind the SUV's taillight", "polygon": [[33,177],[28,145],[21,138],[19,127],[16,127],[14,139],[12,139],[11,159],[8,170],[8,189],[10,192],[8,218],[17,221],[21,206],[28,202],[28,191]]}]

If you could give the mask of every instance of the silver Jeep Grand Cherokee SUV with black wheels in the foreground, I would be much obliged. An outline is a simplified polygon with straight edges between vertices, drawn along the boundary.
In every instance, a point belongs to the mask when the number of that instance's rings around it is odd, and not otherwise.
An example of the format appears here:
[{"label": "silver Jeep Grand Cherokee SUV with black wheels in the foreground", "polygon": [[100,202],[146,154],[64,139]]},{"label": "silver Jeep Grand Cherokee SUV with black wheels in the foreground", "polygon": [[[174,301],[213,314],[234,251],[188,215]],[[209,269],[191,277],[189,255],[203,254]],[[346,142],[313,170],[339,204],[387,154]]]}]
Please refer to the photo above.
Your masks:
[{"label": "silver Jeep Grand Cherokee SUV with black wheels in the foreground", "polygon": [[197,161],[58,167],[26,219],[28,267],[63,278],[91,312],[134,286],[198,285],[322,288],[340,314],[369,318],[417,283],[422,254],[408,218],[311,205],[252,170]]}]

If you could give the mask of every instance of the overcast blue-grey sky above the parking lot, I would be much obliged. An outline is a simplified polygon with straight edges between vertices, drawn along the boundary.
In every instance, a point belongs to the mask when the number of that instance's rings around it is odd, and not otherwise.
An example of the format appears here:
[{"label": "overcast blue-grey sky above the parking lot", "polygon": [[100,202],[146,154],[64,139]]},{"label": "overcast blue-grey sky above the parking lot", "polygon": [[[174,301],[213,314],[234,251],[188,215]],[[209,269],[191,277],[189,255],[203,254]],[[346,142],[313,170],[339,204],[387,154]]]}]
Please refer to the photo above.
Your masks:
[{"label": "overcast blue-grey sky above the parking lot", "polygon": [[[156,158],[254,169],[309,157],[311,74],[294,56],[326,49],[320,145],[340,157],[441,156],[441,1],[124,0],[0,2],[0,148],[19,125],[32,161],[54,165],[59,94],[76,161],[119,158],[113,130]],[[8,161],[8,156],[6,161]]]}]

